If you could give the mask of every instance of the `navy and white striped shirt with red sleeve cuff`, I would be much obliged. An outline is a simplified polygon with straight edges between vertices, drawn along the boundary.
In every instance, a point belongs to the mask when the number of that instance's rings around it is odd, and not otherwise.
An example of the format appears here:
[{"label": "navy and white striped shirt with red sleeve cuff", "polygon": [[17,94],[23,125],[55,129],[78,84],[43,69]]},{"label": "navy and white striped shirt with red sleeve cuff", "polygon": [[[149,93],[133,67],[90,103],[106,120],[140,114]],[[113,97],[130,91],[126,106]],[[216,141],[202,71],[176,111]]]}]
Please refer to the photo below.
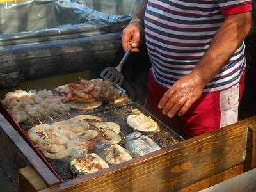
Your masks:
[{"label": "navy and white striped shirt with red sleeve cuff", "polygon": [[[170,88],[189,74],[204,56],[224,15],[250,11],[246,0],[148,0],[145,36],[157,83]],[[245,10],[245,11],[244,11]],[[239,82],[246,60],[244,42],[230,61],[205,86],[204,92],[225,90]]]}]

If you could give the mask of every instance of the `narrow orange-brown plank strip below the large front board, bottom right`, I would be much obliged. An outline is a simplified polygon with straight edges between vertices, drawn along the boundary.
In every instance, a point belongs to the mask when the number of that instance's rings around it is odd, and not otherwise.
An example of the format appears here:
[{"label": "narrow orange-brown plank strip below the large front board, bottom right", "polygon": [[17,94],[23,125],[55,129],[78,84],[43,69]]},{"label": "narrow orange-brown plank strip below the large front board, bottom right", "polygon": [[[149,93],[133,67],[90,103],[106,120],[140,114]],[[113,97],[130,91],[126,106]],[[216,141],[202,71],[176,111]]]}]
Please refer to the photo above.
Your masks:
[{"label": "narrow orange-brown plank strip below the large front board, bottom right", "polygon": [[200,182],[196,182],[195,184],[192,184],[191,186],[180,189],[179,192],[200,191],[202,189],[206,189],[206,188],[214,186],[220,182],[223,182],[224,180],[228,180],[228,179],[231,179],[232,177],[236,177],[237,175],[240,175],[243,172],[244,172],[244,164],[242,163],[242,164],[235,166],[234,168],[230,168],[228,170],[225,170],[224,172],[220,172],[220,173],[213,175],[207,179],[201,180]]}]

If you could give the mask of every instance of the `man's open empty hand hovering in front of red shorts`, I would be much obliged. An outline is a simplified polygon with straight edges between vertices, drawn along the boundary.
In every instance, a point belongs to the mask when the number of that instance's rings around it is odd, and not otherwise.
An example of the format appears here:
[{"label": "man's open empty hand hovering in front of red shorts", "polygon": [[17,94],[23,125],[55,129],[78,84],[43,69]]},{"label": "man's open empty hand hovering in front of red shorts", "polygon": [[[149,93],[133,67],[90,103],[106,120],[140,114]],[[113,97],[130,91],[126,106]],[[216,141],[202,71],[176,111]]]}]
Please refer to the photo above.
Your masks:
[{"label": "man's open empty hand hovering in front of red shorts", "polygon": [[205,83],[199,74],[192,72],[173,84],[160,100],[158,107],[170,118],[178,111],[179,116],[182,116],[201,97],[204,87]]}]

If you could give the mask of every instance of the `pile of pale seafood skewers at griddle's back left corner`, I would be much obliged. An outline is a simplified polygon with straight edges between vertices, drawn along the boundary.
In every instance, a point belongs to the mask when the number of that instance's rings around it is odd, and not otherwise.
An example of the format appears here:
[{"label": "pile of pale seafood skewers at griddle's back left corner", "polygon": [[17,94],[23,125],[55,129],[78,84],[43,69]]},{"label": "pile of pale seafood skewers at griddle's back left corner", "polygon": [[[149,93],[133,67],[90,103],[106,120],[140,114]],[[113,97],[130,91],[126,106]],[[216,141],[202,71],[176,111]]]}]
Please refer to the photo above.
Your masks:
[{"label": "pile of pale seafood skewers at griddle's back left corner", "polygon": [[70,110],[70,106],[63,104],[61,97],[54,95],[50,90],[16,90],[6,94],[3,103],[17,123],[33,124],[38,122],[38,119],[42,122],[49,118],[49,115],[61,116]]}]

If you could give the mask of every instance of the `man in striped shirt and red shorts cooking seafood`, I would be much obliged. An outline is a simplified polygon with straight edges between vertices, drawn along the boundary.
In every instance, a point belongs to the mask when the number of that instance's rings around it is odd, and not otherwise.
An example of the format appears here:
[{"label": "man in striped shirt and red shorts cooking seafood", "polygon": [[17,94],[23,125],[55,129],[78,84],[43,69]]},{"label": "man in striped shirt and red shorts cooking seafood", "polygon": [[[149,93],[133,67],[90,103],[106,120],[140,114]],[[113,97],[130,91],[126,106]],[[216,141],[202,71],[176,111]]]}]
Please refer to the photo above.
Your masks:
[{"label": "man in striped shirt and red shorts cooking seafood", "polygon": [[251,1],[148,0],[144,5],[145,14],[138,12],[124,29],[122,45],[139,51],[144,18],[152,63],[148,109],[169,121],[179,115],[187,138],[237,122]]}]

